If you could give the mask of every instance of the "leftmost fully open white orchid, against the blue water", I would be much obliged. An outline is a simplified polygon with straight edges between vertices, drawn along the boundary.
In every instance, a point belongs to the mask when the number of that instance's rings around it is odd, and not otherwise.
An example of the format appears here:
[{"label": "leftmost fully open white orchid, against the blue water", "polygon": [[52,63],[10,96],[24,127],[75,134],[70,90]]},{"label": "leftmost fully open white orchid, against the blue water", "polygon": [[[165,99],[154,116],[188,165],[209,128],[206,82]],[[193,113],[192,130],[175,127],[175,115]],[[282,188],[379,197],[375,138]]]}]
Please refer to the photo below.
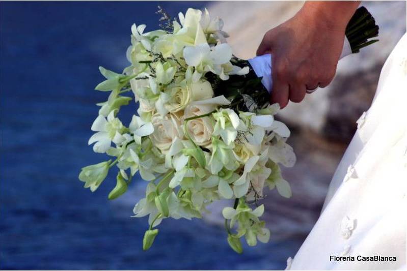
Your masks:
[{"label": "leftmost fully open white orchid, against the blue water", "polygon": [[115,144],[122,143],[126,138],[122,135],[126,131],[126,127],[120,122],[120,119],[115,117],[115,111],[110,112],[106,118],[98,115],[91,127],[95,131],[93,136],[89,138],[88,144],[93,145],[95,153],[105,153],[110,148],[112,141]]}]

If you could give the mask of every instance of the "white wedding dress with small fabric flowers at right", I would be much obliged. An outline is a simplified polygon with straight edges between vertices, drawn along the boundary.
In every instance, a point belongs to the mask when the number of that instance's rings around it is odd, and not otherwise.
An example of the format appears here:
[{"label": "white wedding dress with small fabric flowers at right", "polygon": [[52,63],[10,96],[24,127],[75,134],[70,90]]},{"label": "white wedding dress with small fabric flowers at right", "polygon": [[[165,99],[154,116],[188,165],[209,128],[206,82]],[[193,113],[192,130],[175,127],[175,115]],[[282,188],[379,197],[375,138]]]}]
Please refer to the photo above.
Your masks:
[{"label": "white wedding dress with small fabric flowers at right", "polygon": [[[406,269],[407,34],[388,57],[372,105],[357,124],[322,213],[287,269]],[[358,255],[396,260],[359,261]]]}]

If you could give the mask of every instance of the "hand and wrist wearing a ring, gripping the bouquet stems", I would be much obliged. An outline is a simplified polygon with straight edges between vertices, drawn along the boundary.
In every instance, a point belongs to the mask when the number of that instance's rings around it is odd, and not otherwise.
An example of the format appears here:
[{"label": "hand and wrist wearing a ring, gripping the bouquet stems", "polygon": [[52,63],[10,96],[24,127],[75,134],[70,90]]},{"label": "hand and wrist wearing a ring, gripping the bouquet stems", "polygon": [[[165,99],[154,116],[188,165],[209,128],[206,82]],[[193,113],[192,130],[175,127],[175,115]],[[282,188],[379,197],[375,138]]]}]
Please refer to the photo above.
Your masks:
[{"label": "hand and wrist wearing a ring, gripping the bouquet stems", "polygon": [[277,102],[281,108],[289,100],[299,103],[306,89],[325,87],[332,81],[346,25],[358,5],[306,3],[294,17],[264,35],[257,55],[273,55],[271,103]]}]

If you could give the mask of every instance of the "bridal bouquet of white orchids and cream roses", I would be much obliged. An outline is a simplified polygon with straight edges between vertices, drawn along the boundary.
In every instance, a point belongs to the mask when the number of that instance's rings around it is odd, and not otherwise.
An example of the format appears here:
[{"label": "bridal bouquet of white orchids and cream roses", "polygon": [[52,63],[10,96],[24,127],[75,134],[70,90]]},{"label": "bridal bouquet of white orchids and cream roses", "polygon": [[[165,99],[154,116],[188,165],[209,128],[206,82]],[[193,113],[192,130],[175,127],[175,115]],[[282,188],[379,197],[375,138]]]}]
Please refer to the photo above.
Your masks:
[{"label": "bridal bouquet of white orchids and cream roses", "polygon": [[[110,94],[98,104],[88,143],[113,159],[84,167],[79,179],[94,192],[115,167],[116,186],[106,184],[115,199],[140,173],[148,184],[133,212],[149,216],[144,250],[163,219],[202,218],[222,199],[234,199],[222,212],[231,248],[241,253],[243,236],[249,246],[266,243],[270,231],[258,201],[264,187],[291,196],[280,166],[295,163],[290,131],[274,118],[279,105],[268,104],[267,87],[250,63],[233,56],[221,19],[207,10],[188,9],[178,21],[159,13],[161,29],[131,26],[131,65],[123,73],[99,68],[106,80],[96,90]],[[119,111],[132,99],[139,107],[136,113],[132,105],[126,126]]]}]

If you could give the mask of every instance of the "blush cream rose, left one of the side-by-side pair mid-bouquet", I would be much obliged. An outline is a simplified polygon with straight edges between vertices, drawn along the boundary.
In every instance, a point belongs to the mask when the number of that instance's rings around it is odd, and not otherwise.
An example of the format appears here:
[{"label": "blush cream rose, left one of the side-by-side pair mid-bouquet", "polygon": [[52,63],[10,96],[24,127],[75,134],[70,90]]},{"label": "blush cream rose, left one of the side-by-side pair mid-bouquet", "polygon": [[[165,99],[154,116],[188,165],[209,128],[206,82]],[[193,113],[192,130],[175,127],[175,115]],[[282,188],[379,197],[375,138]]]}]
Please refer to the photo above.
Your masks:
[{"label": "blush cream rose, left one of the side-by-side pair mid-bouquet", "polygon": [[181,123],[177,116],[167,114],[161,116],[154,114],[151,117],[151,123],[154,127],[154,132],[150,135],[150,139],[154,146],[165,154],[171,147],[172,141],[175,137],[183,138]]}]

